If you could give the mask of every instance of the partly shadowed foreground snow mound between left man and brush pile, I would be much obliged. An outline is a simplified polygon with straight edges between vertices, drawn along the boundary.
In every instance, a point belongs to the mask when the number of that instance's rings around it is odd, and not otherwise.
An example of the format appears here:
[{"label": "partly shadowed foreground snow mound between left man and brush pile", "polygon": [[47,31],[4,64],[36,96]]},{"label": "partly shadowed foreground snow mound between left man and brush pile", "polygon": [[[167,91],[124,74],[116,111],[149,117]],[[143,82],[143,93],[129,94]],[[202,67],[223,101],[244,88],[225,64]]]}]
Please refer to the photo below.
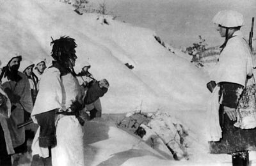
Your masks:
[{"label": "partly shadowed foreground snow mound between left man and brush pile", "polygon": [[88,165],[122,165],[129,158],[155,156],[166,159],[140,138],[102,119],[84,124],[85,160]]}]

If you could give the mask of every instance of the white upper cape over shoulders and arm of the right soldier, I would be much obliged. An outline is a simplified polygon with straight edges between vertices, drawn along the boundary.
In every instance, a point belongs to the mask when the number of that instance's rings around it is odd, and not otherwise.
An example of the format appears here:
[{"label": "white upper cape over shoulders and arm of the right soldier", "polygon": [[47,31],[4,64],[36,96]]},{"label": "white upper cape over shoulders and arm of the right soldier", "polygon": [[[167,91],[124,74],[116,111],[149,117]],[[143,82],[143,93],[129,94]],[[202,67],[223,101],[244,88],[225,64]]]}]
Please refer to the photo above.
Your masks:
[{"label": "white upper cape over shoulders and arm of the right soldier", "polygon": [[216,83],[232,82],[245,86],[246,76],[252,75],[252,56],[241,31],[236,31],[220,54],[213,73]]}]

